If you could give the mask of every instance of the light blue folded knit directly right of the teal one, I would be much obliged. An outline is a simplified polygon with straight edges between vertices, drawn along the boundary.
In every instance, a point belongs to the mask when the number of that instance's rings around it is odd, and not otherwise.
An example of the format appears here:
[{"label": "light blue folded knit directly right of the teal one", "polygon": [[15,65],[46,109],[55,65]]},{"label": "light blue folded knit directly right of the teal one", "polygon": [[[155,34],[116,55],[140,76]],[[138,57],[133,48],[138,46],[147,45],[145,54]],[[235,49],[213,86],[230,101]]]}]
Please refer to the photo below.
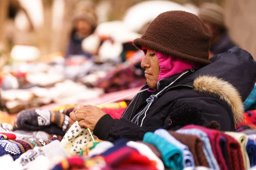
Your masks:
[{"label": "light blue folded knit directly right of the teal one", "polygon": [[192,153],[189,151],[189,148],[176,140],[170,133],[164,129],[158,129],[154,134],[161,136],[163,139],[166,139],[170,144],[175,145],[179,148],[183,155],[183,167],[195,167],[195,162]]}]

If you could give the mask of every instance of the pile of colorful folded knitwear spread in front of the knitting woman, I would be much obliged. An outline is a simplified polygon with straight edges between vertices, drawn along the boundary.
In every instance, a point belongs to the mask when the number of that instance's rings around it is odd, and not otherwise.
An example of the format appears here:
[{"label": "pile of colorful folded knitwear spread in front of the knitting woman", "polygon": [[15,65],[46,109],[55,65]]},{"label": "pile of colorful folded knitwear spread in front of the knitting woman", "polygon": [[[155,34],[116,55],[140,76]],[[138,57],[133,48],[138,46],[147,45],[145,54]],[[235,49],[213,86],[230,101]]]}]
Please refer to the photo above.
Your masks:
[{"label": "pile of colorful folded knitwear spread in front of the knitting woman", "polygon": [[[127,105],[102,108],[119,119]],[[187,125],[147,132],[142,141],[111,143],[69,124],[73,105],[25,110],[15,125],[0,124],[0,164],[17,170],[247,170],[256,166],[256,111],[245,112],[237,132]],[[113,106],[113,105],[112,105]],[[250,116],[249,116],[250,115]],[[250,117],[250,119],[249,119]]]}]

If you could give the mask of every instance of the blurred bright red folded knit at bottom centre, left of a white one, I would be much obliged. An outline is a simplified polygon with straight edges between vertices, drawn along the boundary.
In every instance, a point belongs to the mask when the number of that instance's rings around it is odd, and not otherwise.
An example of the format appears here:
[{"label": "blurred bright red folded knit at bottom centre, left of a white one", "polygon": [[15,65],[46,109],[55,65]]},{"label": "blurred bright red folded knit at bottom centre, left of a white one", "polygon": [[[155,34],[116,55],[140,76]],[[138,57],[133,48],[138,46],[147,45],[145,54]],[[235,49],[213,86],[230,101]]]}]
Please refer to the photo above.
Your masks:
[{"label": "blurred bright red folded knit at bottom centre, left of a white one", "polygon": [[157,170],[156,162],[151,161],[148,157],[140,155],[137,150],[131,147],[122,147],[119,150],[105,157],[105,161],[110,167],[121,168],[127,165],[142,165],[145,170]]}]

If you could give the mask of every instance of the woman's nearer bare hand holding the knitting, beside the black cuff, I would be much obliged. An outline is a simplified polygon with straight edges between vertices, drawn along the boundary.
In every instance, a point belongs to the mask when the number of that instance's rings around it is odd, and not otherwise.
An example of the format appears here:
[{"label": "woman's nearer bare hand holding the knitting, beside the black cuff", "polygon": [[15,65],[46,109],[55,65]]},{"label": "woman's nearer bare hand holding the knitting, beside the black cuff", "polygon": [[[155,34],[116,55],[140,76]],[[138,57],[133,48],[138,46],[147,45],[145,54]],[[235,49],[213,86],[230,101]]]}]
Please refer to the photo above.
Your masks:
[{"label": "woman's nearer bare hand holding the knitting, beside the black cuff", "polygon": [[76,120],[81,128],[94,130],[99,119],[106,113],[96,106],[86,106],[76,112]]}]

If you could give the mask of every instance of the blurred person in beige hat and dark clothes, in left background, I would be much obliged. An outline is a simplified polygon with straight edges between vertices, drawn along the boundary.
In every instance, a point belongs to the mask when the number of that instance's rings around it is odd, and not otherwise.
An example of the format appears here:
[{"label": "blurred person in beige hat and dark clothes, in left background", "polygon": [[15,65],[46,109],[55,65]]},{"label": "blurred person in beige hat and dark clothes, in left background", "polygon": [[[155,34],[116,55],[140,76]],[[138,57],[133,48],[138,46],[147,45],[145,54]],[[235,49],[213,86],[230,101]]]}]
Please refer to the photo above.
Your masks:
[{"label": "blurred person in beige hat and dark clothes, in left background", "polygon": [[81,43],[84,38],[93,33],[97,26],[96,12],[93,5],[88,1],[78,3],[74,11],[73,30],[71,31],[66,57],[83,55],[90,58],[91,54],[82,50]]}]

